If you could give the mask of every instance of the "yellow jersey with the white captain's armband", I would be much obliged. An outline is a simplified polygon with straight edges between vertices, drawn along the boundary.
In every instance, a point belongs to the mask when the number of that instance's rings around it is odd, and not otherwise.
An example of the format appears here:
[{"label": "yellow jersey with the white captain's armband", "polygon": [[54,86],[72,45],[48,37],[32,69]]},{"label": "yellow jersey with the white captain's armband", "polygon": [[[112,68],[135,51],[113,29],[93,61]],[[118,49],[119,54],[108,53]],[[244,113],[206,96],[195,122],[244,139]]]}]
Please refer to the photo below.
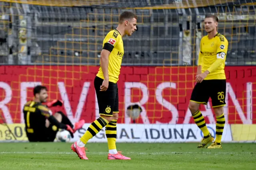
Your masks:
[{"label": "yellow jersey with the white captain's armband", "polygon": [[[210,72],[205,80],[226,79],[224,67],[227,51],[228,40],[223,35],[217,33],[214,38],[209,39],[208,36],[202,38],[198,65],[202,66],[202,73],[206,70]],[[212,64],[216,64],[216,69],[212,69]]]}]

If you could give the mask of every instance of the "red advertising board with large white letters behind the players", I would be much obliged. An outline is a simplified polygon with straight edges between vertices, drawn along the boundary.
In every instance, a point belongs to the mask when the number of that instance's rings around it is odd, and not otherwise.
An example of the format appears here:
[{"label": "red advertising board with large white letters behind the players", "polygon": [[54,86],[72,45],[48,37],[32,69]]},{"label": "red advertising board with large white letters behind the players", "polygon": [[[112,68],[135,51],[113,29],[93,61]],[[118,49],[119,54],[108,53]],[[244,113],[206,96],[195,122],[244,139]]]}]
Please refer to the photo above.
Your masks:
[{"label": "red advertising board with large white letters behind the players", "polygon": [[[256,123],[256,67],[228,66],[224,107],[230,124]],[[8,123],[22,123],[22,105],[33,99],[32,87],[48,87],[49,100],[62,99],[62,110],[74,122],[86,123],[98,115],[94,77],[98,66],[0,66],[0,114]],[[126,115],[129,105],[143,111],[135,123],[194,123],[188,104],[195,84],[196,67],[123,66],[118,81],[119,123],[132,123]],[[211,89],[209,89],[211,90]],[[215,123],[211,102],[201,105],[206,123]],[[2,122],[2,120],[0,120]]]}]

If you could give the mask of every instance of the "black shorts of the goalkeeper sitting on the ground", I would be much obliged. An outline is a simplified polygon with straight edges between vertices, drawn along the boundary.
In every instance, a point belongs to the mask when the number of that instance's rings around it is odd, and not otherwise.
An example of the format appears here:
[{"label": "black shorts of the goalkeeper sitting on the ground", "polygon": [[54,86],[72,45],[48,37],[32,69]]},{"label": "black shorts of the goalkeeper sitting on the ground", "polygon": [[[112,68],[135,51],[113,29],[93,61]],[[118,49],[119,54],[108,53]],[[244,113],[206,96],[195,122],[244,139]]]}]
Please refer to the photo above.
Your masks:
[{"label": "black shorts of the goalkeeper sitting on the ground", "polygon": [[53,142],[58,132],[58,128],[52,124],[48,128],[41,127],[38,129],[40,130],[35,130],[34,133],[27,133],[30,142]]}]

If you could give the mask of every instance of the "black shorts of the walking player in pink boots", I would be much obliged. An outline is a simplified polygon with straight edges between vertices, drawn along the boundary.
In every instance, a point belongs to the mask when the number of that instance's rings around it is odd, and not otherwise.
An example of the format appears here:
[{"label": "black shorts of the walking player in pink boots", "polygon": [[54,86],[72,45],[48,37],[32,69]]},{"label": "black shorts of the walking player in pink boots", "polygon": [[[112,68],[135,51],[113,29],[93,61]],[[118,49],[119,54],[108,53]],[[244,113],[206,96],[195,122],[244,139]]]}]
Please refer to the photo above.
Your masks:
[{"label": "black shorts of the walking player in pink boots", "polygon": [[112,116],[113,113],[119,113],[118,110],[118,87],[117,83],[108,83],[108,89],[106,91],[100,91],[103,79],[95,77],[94,88],[96,91],[99,114],[105,116]]}]

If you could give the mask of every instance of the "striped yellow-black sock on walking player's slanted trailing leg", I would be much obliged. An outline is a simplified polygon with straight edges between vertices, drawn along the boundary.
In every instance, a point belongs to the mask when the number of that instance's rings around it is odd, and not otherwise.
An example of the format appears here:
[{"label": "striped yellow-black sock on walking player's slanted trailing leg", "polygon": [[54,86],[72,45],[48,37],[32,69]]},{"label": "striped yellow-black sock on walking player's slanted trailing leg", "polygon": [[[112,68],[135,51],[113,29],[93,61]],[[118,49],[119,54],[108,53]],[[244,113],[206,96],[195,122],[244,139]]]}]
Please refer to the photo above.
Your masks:
[{"label": "striped yellow-black sock on walking player's slanted trailing leg", "polygon": [[96,119],[86,130],[84,135],[80,138],[80,140],[86,144],[90,138],[95,136],[103,127],[108,124],[108,121],[103,117],[99,117]]}]

